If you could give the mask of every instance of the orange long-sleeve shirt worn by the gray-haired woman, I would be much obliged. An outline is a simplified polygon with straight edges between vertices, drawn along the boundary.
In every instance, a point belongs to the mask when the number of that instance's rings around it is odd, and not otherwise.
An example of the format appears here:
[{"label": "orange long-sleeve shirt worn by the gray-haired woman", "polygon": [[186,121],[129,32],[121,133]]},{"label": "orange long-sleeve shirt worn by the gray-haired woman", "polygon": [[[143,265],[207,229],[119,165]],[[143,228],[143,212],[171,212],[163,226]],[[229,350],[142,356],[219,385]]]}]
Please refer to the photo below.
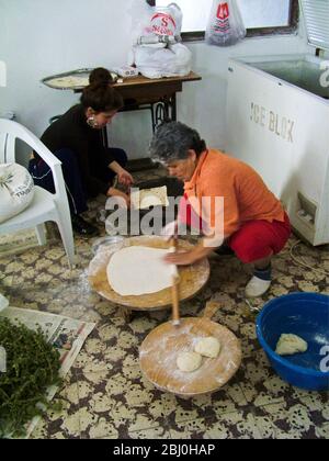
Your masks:
[{"label": "orange long-sleeve shirt worn by the gray-haired woman", "polygon": [[[245,222],[252,220],[284,221],[281,202],[268,189],[261,177],[248,165],[219,150],[201,154],[191,181],[184,183],[189,200],[224,198],[224,237],[229,237]],[[195,200],[195,199],[194,199]],[[192,200],[193,205],[193,200]],[[214,227],[212,206],[208,226]]]}]

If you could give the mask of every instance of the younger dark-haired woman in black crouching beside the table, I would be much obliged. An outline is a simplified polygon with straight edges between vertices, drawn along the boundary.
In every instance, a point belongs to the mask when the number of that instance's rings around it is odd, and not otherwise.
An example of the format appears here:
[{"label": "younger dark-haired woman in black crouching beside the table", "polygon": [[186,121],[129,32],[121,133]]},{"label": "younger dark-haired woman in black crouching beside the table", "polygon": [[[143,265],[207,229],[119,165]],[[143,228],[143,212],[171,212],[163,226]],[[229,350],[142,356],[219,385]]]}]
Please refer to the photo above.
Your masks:
[{"label": "younger dark-haired woman in black crouching beside the table", "polygon": [[[82,235],[93,235],[97,227],[87,223],[87,199],[99,193],[120,195],[129,202],[128,195],[113,188],[118,182],[132,184],[133,177],[124,169],[127,155],[123,149],[103,145],[101,130],[111,123],[123,106],[123,100],[111,87],[111,74],[98,68],[91,72],[90,85],[84,88],[80,104],[69,109],[48,126],[41,140],[61,161],[64,179],[71,211],[72,227]],[[30,172],[36,185],[54,192],[49,167],[35,154],[30,160]]]}]

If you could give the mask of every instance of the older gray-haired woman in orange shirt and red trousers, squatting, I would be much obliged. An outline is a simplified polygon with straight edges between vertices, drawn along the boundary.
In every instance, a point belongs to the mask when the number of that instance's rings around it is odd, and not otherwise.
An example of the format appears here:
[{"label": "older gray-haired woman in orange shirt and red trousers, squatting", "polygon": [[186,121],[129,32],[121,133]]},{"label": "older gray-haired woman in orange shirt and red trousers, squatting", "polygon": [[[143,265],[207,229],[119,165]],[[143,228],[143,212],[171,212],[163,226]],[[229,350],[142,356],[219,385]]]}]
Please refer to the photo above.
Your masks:
[{"label": "older gray-haired woman in orange shirt and red trousers, squatting", "polygon": [[[243,263],[254,265],[246,295],[262,295],[271,285],[271,258],[285,246],[291,225],[261,177],[242,161],[208,149],[195,130],[180,122],[157,130],[150,155],[166,165],[170,176],[184,182],[179,223],[198,227],[204,234],[200,245],[168,256],[167,262],[193,265],[224,241],[223,247],[230,248]],[[173,234],[179,223],[168,225],[164,233],[171,229],[169,234]]]}]

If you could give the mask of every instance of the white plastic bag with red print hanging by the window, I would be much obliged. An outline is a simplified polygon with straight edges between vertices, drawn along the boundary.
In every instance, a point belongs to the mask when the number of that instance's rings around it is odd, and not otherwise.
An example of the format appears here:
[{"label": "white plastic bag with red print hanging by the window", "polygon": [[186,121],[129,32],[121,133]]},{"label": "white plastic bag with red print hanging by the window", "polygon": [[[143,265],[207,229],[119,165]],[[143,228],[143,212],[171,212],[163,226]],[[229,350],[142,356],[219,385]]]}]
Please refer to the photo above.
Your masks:
[{"label": "white plastic bag with red print hanging by the window", "polygon": [[206,43],[230,46],[246,36],[246,27],[236,0],[214,0],[205,33]]}]

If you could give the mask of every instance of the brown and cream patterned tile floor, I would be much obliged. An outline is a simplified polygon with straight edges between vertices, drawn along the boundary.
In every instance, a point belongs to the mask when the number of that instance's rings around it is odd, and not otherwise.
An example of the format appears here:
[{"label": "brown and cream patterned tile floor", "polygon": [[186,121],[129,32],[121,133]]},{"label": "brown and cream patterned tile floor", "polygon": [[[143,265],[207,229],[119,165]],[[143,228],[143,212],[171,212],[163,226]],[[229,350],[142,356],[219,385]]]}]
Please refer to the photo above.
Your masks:
[{"label": "brown and cream patterned tile floor", "polygon": [[[160,170],[135,175],[138,179],[161,176]],[[90,205],[97,218],[104,198]],[[329,438],[329,400],[326,393],[302,391],[284,383],[271,369],[254,331],[254,314],[243,299],[251,273],[234,257],[211,259],[207,286],[183,303],[183,315],[197,315],[209,299],[225,307],[214,319],[241,340],[243,360],[237,374],[220,391],[185,400],[154,387],[138,366],[138,347],[146,335],[166,322],[168,311],[134,313],[129,323],[118,306],[89,288],[87,268],[94,239],[76,238],[79,266],[69,271],[58,239],[45,247],[11,257],[0,256],[0,289],[11,305],[48,311],[97,322],[66,383],[57,395],[63,411],[49,413],[33,438]],[[295,263],[288,246],[273,260],[271,290],[254,305],[294,291],[329,293],[329,248],[304,244],[304,260],[326,273]],[[225,268],[225,270],[224,270]]]}]

